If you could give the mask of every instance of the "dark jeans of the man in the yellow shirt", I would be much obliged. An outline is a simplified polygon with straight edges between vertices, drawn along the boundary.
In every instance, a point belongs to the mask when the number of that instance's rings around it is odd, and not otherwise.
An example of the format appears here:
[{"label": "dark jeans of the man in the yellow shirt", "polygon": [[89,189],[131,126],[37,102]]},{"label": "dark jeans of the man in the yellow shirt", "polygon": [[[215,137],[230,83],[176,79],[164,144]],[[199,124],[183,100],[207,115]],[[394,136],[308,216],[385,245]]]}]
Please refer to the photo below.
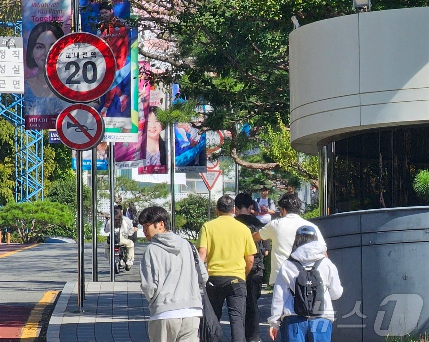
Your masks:
[{"label": "dark jeans of the man in the yellow shirt", "polygon": [[245,341],[246,282],[237,277],[211,275],[208,277],[205,289],[219,321],[222,317],[224,301],[227,300],[232,341]]}]

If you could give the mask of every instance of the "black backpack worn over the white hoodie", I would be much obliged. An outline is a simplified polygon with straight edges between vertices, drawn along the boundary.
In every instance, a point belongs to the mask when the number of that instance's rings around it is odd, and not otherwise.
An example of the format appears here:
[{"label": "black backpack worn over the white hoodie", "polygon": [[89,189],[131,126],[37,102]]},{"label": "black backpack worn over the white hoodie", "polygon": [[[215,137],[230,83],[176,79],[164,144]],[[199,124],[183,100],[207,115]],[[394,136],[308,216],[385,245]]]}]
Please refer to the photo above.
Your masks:
[{"label": "black backpack worn over the white hoodie", "polygon": [[317,260],[309,270],[306,270],[298,260],[291,257],[288,260],[293,262],[299,269],[298,277],[295,281],[295,293],[290,290],[294,299],[293,310],[299,316],[320,316],[325,308],[325,291],[317,267],[319,267],[323,258]]}]

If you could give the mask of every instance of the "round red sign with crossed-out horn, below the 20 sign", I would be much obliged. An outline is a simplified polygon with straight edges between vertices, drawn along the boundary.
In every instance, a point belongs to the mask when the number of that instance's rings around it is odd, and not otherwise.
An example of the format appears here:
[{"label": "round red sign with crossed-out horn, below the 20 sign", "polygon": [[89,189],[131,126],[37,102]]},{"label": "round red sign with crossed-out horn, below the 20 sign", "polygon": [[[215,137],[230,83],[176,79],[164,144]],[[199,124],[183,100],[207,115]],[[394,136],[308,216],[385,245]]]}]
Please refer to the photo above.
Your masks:
[{"label": "round red sign with crossed-out horn, below the 20 sign", "polygon": [[55,127],[61,142],[77,151],[94,148],[104,136],[104,120],[100,113],[83,103],[64,109],[58,115]]}]

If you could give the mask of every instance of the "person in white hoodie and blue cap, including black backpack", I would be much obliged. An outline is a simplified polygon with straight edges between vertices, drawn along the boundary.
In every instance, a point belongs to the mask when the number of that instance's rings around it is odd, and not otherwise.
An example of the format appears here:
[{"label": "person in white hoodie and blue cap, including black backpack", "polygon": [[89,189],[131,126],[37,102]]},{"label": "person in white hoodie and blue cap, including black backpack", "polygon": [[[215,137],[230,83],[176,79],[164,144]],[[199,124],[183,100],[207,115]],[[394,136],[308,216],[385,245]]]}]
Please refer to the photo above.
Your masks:
[{"label": "person in white hoodie and blue cap, including black backpack", "polygon": [[326,246],[312,226],[296,230],[292,253],[278,272],[269,334],[281,341],[330,341],[335,321],[332,300],[343,293],[338,270],[325,257]]}]

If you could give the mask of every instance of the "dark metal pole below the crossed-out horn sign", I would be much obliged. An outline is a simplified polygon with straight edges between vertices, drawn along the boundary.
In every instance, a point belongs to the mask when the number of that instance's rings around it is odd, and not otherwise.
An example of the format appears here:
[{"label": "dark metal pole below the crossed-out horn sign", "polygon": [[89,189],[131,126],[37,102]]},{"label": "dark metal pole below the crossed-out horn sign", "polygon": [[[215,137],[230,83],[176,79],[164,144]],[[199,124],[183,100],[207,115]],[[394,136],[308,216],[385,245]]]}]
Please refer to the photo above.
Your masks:
[{"label": "dark metal pole below the crossed-out horn sign", "polygon": [[78,309],[83,311],[85,291],[83,243],[82,151],[76,151],[76,223],[78,229]]}]

